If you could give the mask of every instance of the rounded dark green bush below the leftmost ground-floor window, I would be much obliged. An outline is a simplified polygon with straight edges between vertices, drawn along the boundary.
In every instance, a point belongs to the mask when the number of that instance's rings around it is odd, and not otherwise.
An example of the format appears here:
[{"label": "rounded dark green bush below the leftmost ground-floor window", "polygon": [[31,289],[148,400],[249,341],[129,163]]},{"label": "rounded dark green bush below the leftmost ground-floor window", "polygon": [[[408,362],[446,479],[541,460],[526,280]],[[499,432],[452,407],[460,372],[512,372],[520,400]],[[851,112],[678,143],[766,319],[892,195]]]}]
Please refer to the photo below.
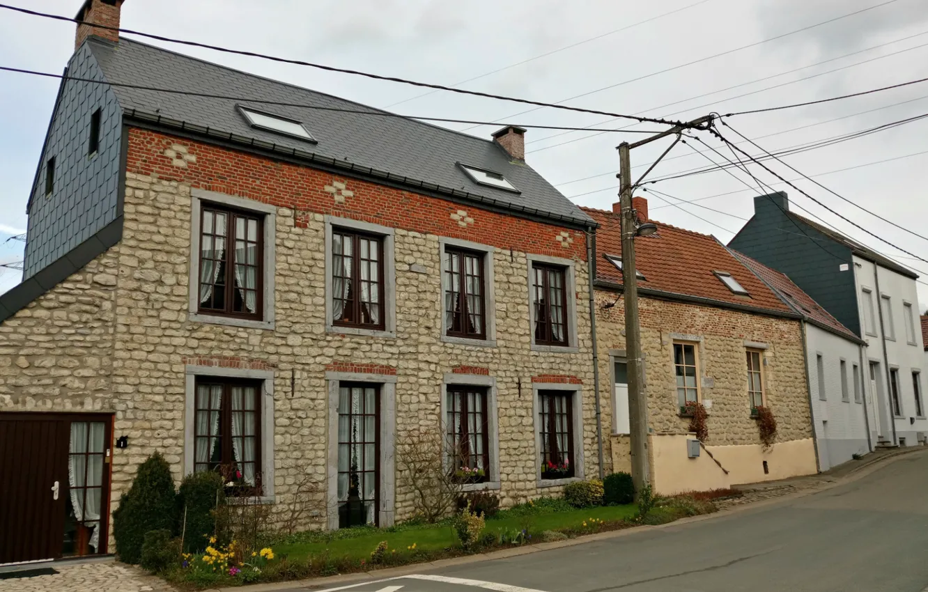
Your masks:
[{"label": "rounded dark green bush below the leftmost ground-floor window", "polygon": [[[213,510],[226,502],[223,478],[212,470],[187,475],[177,492],[177,534],[184,534],[184,552],[200,553],[215,534]],[[184,510],[187,510],[187,520]],[[186,522],[186,527],[185,527]]]}]

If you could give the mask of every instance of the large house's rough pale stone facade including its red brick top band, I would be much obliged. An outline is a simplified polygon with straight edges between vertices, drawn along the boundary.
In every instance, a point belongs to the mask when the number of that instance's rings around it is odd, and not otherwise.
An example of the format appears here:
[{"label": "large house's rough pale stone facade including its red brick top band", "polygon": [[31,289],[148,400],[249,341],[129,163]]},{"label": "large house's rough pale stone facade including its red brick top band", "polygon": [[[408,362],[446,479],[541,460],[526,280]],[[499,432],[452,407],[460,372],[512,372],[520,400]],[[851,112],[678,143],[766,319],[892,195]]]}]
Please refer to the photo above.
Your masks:
[{"label": "large house's rough pale stone facade including its red brick top band", "polygon": [[[277,206],[273,330],[188,319],[193,187]],[[75,367],[102,368],[101,374],[105,369],[107,381],[94,383],[92,404],[115,412],[115,436],[129,436],[129,447],[114,451],[112,458],[114,505],[137,465],[155,451],[171,463],[175,478],[182,477],[187,364],[276,371],[277,520],[286,519],[296,483],[304,474],[313,474],[325,491],[329,424],[325,372],[333,368],[344,371],[360,365],[395,374],[397,440],[417,426],[437,426],[445,373],[463,367],[468,373],[495,377],[504,505],[553,491],[539,489],[535,482],[533,379],[582,384],[586,474],[596,474],[582,232],[139,130],[130,133],[123,213],[119,245],[101,255],[87,273],[72,277],[20,311],[0,333],[21,334],[11,347],[0,350],[0,395],[8,410],[85,405],[89,387],[78,390],[76,383],[67,391],[43,389],[45,397],[39,401],[33,396],[31,402],[27,393],[38,395],[39,389],[26,384],[31,375],[24,373],[19,358],[33,364],[31,356],[42,351],[33,348],[33,341],[54,341],[48,347],[57,348],[61,356],[55,365],[69,368],[75,365],[71,353],[77,355],[76,350],[66,349],[71,338],[61,335],[50,340],[46,332],[83,330],[78,321],[84,319],[95,336],[100,332],[99,339],[107,340],[105,352],[102,345],[95,346],[95,352],[101,350],[98,363],[84,356]],[[395,228],[395,338],[326,332],[324,214]],[[495,248],[496,347],[440,340],[439,236]],[[574,261],[578,353],[530,351],[526,252]],[[84,286],[80,282],[85,277],[95,279]],[[61,328],[55,328],[50,315],[41,322],[35,318],[36,310],[64,305],[80,290],[86,291],[85,298],[99,301],[96,306],[105,314],[75,310],[61,318]],[[75,298],[71,307],[90,306],[83,297]],[[80,314],[86,318],[73,316]],[[74,377],[69,369],[67,376],[54,380],[63,383]],[[395,498],[396,518],[409,518],[412,492],[402,474],[396,476]],[[324,495],[320,492],[314,499],[315,509],[303,527],[325,524]]]}]

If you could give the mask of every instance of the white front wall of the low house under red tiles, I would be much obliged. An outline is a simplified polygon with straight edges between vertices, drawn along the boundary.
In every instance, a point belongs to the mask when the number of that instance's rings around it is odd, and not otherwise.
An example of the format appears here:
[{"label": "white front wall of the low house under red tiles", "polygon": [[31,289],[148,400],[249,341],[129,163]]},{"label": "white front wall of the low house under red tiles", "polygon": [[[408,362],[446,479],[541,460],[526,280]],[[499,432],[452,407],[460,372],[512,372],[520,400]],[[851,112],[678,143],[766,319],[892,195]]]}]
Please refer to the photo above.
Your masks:
[{"label": "white front wall of the low house under red tiles", "polygon": [[818,470],[829,470],[856,454],[865,455],[876,444],[870,437],[872,418],[864,404],[866,366],[861,364],[861,350],[855,341],[806,323],[806,367]]}]

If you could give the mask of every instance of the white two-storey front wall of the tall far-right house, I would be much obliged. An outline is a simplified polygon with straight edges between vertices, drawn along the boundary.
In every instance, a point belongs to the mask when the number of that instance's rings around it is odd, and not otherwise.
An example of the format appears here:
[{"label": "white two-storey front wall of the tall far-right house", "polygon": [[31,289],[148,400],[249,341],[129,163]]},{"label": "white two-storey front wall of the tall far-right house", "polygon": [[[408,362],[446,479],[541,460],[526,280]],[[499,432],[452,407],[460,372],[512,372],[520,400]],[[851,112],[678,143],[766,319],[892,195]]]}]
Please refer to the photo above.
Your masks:
[{"label": "white two-storey front wall of the tall far-right house", "polygon": [[[915,280],[857,255],[854,273],[860,327],[867,341],[868,380],[864,384],[872,418],[871,439],[874,444],[918,445],[928,432],[922,377],[922,369],[928,366]],[[893,374],[897,405],[892,395]]]}]

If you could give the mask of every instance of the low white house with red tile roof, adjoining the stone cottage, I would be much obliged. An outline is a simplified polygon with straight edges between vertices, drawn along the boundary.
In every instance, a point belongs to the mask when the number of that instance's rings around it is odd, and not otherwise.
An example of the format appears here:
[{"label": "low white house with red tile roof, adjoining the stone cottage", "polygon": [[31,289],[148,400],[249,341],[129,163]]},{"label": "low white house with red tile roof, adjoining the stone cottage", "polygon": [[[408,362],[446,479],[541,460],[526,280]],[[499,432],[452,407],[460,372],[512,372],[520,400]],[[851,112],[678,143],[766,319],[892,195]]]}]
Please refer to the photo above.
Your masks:
[{"label": "low white house with red tile roof, adjoining the stone cottage", "polygon": [[874,418],[867,413],[863,389],[866,342],[829,315],[789,277],[741,252],[733,252],[780,300],[803,317],[818,470],[829,470],[855,455],[871,452],[875,443],[870,441],[870,422]]}]

